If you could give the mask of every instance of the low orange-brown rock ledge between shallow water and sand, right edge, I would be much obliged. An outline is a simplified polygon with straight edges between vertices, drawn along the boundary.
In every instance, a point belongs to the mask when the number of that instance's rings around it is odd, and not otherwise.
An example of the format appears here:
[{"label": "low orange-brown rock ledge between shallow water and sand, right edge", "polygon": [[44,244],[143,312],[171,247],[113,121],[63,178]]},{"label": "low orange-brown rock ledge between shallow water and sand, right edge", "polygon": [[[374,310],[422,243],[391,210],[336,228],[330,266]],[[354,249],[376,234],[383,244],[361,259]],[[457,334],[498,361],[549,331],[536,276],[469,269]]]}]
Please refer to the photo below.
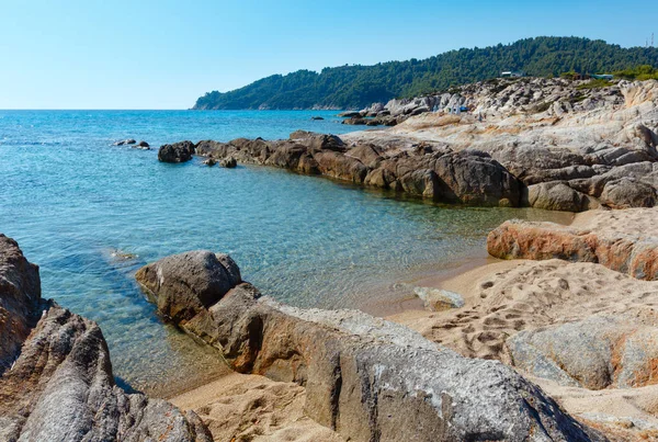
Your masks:
[{"label": "low orange-brown rock ledge between shallow water and sand, right edge", "polygon": [[638,280],[658,280],[658,242],[597,233],[554,223],[509,220],[487,237],[489,254],[500,259],[561,259],[593,262]]}]

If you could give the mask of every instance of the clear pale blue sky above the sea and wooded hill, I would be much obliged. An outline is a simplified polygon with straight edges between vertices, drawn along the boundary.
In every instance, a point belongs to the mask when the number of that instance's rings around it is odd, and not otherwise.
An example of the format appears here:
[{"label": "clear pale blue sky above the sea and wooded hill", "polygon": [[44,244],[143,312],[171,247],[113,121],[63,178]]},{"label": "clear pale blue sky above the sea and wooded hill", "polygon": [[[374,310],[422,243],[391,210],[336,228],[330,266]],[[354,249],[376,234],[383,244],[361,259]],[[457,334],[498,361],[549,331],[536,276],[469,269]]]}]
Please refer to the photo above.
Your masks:
[{"label": "clear pale blue sky above the sea and wooded hill", "polygon": [[0,0],[0,109],[186,109],[272,73],[538,35],[644,46],[656,11],[656,0]]}]

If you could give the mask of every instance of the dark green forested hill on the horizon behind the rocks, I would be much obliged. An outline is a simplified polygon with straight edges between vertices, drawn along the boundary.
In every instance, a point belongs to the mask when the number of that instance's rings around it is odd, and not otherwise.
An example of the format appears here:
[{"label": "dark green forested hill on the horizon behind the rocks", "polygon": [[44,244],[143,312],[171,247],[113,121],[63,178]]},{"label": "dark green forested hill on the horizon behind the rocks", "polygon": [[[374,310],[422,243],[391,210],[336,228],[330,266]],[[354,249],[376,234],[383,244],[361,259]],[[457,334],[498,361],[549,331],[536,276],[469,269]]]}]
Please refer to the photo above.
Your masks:
[{"label": "dark green forested hill on the horizon behind the rocks", "polygon": [[208,92],[193,109],[360,109],[486,80],[503,70],[529,76],[612,72],[658,66],[658,48],[623,48],[579,37],[526,38],[510,45],[451,50],[423,60],[341,66],[275,75],[230,92]]}]

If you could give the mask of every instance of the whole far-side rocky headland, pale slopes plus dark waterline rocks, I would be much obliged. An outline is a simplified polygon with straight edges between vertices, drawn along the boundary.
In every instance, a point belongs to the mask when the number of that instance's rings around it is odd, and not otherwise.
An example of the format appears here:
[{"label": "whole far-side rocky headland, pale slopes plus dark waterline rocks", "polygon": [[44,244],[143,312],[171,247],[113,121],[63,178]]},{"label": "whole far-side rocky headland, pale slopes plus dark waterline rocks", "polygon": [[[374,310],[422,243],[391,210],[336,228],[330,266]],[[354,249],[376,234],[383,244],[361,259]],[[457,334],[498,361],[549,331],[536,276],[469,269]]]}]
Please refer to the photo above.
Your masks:
[{"label": "whole far-side rocky headland, pale slopes plus dark waterline rocks", "polygon": [[[444,203],[567,212],[653,207],[658,81],[581,87],[559,79],[477,83],[433,98],[435,106],[470,110],[458,115],[423,112],[388,129],[342,137],[296,132],[274,141],[181,141],[163,146],[159,158],[231,158]],[[166,155],[171,146],[186,154]]]}]

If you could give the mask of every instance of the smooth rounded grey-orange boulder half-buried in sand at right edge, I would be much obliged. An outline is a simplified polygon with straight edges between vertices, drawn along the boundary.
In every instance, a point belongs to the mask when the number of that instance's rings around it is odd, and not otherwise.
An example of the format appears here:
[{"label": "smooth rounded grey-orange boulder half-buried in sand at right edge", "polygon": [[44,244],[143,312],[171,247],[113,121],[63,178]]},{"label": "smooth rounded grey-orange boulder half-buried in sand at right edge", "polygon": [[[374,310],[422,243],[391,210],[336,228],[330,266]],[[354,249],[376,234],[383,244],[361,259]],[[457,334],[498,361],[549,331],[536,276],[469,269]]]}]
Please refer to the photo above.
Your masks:
[{"label": "smooth rounded grey-orange boulder half-buried in sand at right edge", "polygon": [[634,319],[592,316],[522,331],[506,345],[523,372],[564,386],[602,389],[658,384],[658,328],[636,325]]}]

